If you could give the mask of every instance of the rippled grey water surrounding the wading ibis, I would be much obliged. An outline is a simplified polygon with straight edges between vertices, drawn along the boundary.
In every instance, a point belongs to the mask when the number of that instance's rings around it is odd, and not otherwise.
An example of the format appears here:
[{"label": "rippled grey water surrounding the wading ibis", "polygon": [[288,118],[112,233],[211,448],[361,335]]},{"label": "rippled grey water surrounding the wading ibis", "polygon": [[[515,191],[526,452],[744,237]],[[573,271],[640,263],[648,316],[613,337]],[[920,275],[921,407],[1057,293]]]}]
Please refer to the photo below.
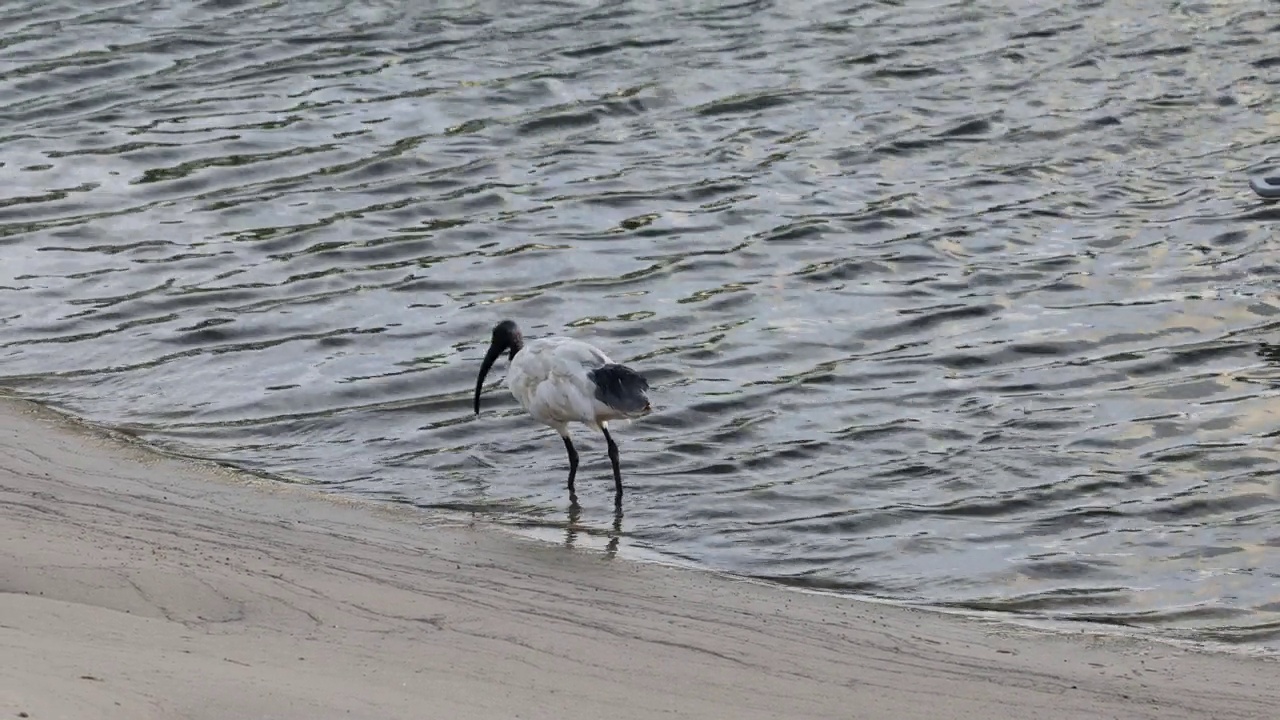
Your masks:
[{"label": "rippled grey water surrounding the wading ibis", "polygon": [[[0,384],[760,578],[1280,629],[1280,24],[1206,3],[9,1]],[[489,328],[644,369],[566,459]],[[499,365],[492,382],[503,374]]]}]

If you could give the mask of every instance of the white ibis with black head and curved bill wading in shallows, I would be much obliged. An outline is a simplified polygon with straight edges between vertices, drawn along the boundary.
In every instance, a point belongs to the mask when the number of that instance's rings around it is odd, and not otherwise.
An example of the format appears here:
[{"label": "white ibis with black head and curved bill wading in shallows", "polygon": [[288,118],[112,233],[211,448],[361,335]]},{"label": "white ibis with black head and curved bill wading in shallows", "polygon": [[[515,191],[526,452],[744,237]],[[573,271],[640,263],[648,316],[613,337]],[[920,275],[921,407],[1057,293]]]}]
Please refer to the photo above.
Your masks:
[{"label": "white ibis with black head and curved bill wading in shallows", "polygon": [[568,451],[568,500],[577,506],[573,478],[577,475],[577,451],[568,437],[570,423],[604,433],[613,462],[614,505],[622,507],[622,470],[618,468],[618,446],[609,437],[609,420],[630,420],[650,411],[649,382],[626,365],[618,365],[600,350],[568,337],[543,337],[525,343],[520,327],[512,320],[494,325],[489,352],[476,378],[476,415],[480,414],[480,388],[489,368],[503,352],[509,351],[507,389],[539,423],[559,433]]}]

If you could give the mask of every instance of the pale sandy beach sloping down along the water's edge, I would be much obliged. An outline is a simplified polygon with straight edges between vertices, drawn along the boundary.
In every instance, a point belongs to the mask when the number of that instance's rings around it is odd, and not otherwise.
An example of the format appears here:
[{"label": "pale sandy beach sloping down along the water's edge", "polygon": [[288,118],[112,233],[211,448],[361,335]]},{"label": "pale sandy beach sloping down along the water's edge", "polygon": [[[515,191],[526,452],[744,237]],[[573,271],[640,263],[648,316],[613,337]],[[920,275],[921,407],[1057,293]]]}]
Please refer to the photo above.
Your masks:
[{"label": "pale sandy beach sloping down along the water's edge", "polygon": [[0,717],[1272,717],[1274,661],[607,559],[0,402]]}]

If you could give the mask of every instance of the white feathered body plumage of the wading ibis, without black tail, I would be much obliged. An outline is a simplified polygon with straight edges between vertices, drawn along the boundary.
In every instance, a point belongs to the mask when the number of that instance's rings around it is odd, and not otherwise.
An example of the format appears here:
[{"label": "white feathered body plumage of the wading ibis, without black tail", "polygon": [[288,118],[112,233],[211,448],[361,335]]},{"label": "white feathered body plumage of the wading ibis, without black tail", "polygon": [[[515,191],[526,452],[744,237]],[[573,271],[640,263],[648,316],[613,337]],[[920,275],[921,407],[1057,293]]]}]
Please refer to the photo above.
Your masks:
[{"label": "white feathered body plumage of the wading ibis, without black tail", "polygon": [[540,423],[564,434],[570,423],[600,430],[611,420],[639,418],[602,402],[590,373],[613,364],[599,348],[568,337],[530,341],[507,368],[507,389]]}]

